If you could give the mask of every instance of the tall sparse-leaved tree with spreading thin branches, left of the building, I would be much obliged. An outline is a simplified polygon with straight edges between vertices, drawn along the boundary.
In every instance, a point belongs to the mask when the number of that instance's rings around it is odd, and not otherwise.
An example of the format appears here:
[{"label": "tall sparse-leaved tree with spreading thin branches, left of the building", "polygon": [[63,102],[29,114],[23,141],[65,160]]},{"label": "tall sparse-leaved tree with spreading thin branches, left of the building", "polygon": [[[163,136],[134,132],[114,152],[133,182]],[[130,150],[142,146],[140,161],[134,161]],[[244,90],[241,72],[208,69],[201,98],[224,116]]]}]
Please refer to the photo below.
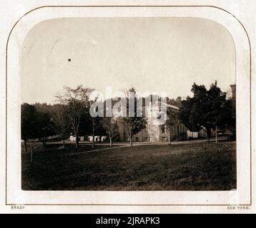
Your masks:
[{"label": "tall sparse-leaved tree with spreading thin branches, left of the building", "polygon": [[67,118],[72,125],[74,135],[76,136],[76,147],[79,145],[79,124],[81,117],[89,108],[89,95],[92,88],[85,88],[82,85],[77,88],[64,87],[62,93],[56,95],[56,99],[62,105],[67,107]]}]

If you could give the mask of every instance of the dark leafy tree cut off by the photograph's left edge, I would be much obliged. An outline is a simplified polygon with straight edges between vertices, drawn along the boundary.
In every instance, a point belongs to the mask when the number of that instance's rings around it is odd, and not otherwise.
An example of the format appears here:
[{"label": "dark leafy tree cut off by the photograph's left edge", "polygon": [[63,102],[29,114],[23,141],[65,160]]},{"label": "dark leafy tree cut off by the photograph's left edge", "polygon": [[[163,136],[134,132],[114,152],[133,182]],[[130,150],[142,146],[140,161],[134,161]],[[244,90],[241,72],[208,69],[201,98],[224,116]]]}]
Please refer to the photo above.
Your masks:
[{"label": "dark leafy tree cut off by the photograph's left edge", "polygon": [[29,105],[28,103],[21,105],[21,139],[24,140],[26,151],[27,140],[36,138],[36,118],[37,112],[34,105]]}]

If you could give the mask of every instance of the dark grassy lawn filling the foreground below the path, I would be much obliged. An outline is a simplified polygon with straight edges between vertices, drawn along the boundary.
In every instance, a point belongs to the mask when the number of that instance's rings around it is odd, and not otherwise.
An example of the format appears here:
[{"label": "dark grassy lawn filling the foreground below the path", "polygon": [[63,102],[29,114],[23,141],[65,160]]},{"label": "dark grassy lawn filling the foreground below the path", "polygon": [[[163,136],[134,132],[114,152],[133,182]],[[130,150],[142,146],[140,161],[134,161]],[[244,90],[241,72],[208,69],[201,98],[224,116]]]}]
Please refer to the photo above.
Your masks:
[{"label": "dark grassy lawn filling the foreground below the path", "polygon": [[72,148],[51,147],[35,152],[32,165],[29,153],[22,152],[21,162],[23,190],[236,188],[235,142],[141,145],[78,154]]}]

